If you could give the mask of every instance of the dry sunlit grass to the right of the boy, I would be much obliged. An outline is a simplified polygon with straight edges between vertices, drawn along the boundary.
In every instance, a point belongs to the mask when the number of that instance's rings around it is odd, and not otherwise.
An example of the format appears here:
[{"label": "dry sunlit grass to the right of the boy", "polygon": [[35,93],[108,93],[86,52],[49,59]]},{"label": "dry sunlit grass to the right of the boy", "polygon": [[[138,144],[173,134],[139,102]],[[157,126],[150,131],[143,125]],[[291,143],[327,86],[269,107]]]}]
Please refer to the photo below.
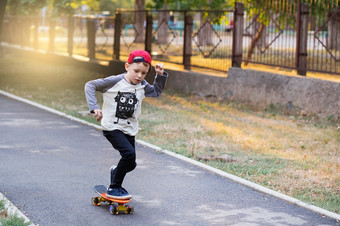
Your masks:
[{"label": "dry sunlit grass to the right of the boy", "polygon": [[[235,162],[207,162],[229,173],[285,194],[314,197],[316,204],[333,193],[332,211],[339,212],[340,132],[337,122],[256,111],[235,103],[210,102],[165,93],[146,99],[141,139],[202,160],[230,155]],[[153,122],[148,120],[156,112]],[[301,196],[300,191],[309,196]],[[318,200],[318,201],[316,201]]]}]

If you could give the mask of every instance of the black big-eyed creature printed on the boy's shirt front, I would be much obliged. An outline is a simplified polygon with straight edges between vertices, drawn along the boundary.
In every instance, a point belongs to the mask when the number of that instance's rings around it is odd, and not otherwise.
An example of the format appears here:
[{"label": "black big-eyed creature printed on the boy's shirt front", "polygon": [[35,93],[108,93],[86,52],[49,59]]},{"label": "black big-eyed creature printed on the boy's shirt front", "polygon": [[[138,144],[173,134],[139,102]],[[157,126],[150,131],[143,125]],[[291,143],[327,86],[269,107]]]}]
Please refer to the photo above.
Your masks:
[{"label": "black big-eyed creature printed on the boy's shirt front", "polygon": [[[114,122],[115,124],[119,122],[119,119],[129,119],[133,116],[133,113],[137,107],[136,104],[138,103],[136,93],[118,91],[115,101],[117,102],[117,122]],[[127,123],[130,124],[130,122]]]}]

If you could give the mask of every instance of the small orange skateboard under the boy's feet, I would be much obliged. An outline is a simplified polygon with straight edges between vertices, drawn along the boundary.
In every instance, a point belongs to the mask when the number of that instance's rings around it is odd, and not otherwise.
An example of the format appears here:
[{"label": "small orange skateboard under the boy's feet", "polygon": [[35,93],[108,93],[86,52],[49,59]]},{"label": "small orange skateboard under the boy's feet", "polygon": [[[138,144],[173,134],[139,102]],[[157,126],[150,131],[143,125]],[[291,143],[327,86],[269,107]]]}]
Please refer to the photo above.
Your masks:
[{"label": "small orange skateboard under the boy's feet", "polygon": [[133,207],[127,205],[127,203],[130,202],[130,199],[114,199],[107,197],[107,188],[104,185],[96,185],[93,189],[99,196],[92,197],[92,205],[99,206],[101,202],[106,202],[110,205],[109,211],[112,215],[133,213]]}]

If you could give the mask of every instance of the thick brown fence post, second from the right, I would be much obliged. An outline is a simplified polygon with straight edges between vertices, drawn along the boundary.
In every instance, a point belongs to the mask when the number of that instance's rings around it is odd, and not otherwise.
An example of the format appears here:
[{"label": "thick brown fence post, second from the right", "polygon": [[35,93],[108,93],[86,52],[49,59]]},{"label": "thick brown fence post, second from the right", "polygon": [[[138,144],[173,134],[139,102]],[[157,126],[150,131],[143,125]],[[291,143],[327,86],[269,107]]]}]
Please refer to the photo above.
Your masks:
[{"label": "thick brown fence post, second from the right", "polygon": [[233,47],[231,65],[232,67],[241,67],[242,64],[242,53],[243,53],[243,15],[244,15],[244,4],[235,3],[234,11],[234,27],[233,27]]}]

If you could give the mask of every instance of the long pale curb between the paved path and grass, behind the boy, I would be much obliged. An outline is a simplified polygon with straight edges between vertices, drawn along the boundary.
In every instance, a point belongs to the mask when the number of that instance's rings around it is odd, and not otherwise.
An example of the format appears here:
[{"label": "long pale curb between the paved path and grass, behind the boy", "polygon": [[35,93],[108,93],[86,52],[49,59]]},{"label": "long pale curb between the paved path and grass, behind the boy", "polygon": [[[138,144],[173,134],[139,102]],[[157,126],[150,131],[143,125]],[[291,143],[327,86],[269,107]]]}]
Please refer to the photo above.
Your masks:
[{"label": "long pale curb between the paved path and grass, behind the boy", "polygon": [[[15,95],[13,95],[13,94],[7,93],[7,92],[2,91],[2,90],[0,90],[0,94],[2,94],[2,95],[4,95],[4,96],[7,96],[7,97],[9,97],[9,98],[12,98],[12,99],[15,99],[15,100],[24,102],[24,103],[26,103],[26,104],[30,104],[30,105],[32,105],[32,106],[38,107],[38,108],[43,109],[43,110],[45,110],[45,111],[54,113],[54,114],[59,115],[59,116],[61,116],[61,117],[68,118],[68,119],[70,119],[70,120],[72,120],[72,121],[76,121],[76,122],[79,122],[79,123],[81,123],[81,124],[88,125],[88,126],[92,126],[92,127],[96,128],[96,129],[98,129],[98,130],[101,130],[101,127],[98,126],[98,125],[96,125],[96,124],[89,123],[89,122],[87,122],[87,121],[85,121],[85,120],[82,120],[82,119],[79,119],[79,118],[76,118],[76,117],[67,115],[67,114],[65,114],[65,113],[63,113],[63,112],[57,111],[57,110],[55,110],[55,109],[53,109],[53,108],[46,107],[46,106],[41,105],[41,104],[38,104],[38,103],[35,103],[35,102],[30,101],[30,100],[27,100],[27,99],[25,99],[25,98],[15,96]],[[188,157],[185,157],[185,156],[176,154],[176,153],[174,153],[174,152],[171,152],[171,151],[162,149],[162,148],[160,148],[160,147],[158,147],[158,146],[156,146],[156,145],[147,143],[147,142],[145,142],[145,141],[136,140],[136,142],[137,142],[138,144],[140,144],[140,145],[143,145],[143,146],[149,147],[149,148],[151,148],[151,149],[154,149],[155,151],[162,152],[162,153],[164,153],[164,154],[167,154],[167,155],[172,156],[172,157],[174,157],[174,158],[180,159],[180,160],[185,161],[185,162],[187,162],[187,163],[190,163],[190,164],[196,165],[196,166],[198,166],[198,167],[201,167],[201,168],[203,168],[203,169],[209,170],[209,171],[211,171],[211,172],[213,172],[213,173],[216,173],[216,174],[218,174],[218,175],[220,175],[220,176],[222,176],[222,177],[228,178],[228,179],[230,179],[230,180],[232,180],[232,181],[234,181],[234,182],[237,182],[237,183],[239,183],[239,184],[242,184],[242,185],[244,185],[244,186],[247,186],[247,187],[249,187],[249,188],[252,188],[252,189],[254,189],[254,190],[256,190],[256,191],[259,191],[259,192],[261,192],[261,193],[271,195],[271,196],[273,196],[273,197],[276,197],[276,198],[279,198],[279,199],[284,200],[284,201],[286,201],[286,202],[289,202],[289,203],[291,203],[291,204],[293,204],[293,205],[297,205],[297,206],[303,207],[303,208],[308,209],[308,210],[311,210],[311,211],[313,211],[313,212],[315,212],[315,213],[319,213],[319,214],[321,214],[321,215],[323,215],[323,216],[327,216],[327,217],[333,218],[333,219],[335,219],[335,220],[337,220],[337,221],[340,221],[340,215],[339,215],[339,214],[333,213],[333,212],[331,212],[331,211],[322,209],[322,208],[317,207],[317,206],[314,206],[314,205],[307,204],[307,203],[302,202],[302,201],[300,201],[300,200],[298,200],[298,199],[292,198],[292,197],[290,197],[290,196],[288,196],[288,195],[285,195],[285,194],[282,194],[282,193],[280,193],[280,192],[277,192],[277,191],[271,190],[271,189],[269,189],[269,188],[263,187],[263,186],[258,185],[258,184],[256,184],[256,183],[253,183],[253,182],[250,182],[250,181],[245,180],[245,179],[243,179],[243,178],[237,177],[237,176],[235,176],[235,175],[226,173],[226,172],[224,172],[224,171],[222,171],[222,170],[219,170],[219,169],[216,169],[216,168],[214,168],[214,167],[208,166],[208,165],[203,164],[203,163],[201,163],[201,162],[199,162],[199,161],[196,161],[196,160],[190,159],[190,158],[188,158]],[[0,194],[1,194],[1,193],[0,193]],[[1,197],[1,196],[0,196],[0,197]],[[25,215],[24,215],[24,216],[25,216]],[[26,217],[26,216],[25,216],[25,217]],[[27,218],[27,217],[26,217],[26,218]]]}]

